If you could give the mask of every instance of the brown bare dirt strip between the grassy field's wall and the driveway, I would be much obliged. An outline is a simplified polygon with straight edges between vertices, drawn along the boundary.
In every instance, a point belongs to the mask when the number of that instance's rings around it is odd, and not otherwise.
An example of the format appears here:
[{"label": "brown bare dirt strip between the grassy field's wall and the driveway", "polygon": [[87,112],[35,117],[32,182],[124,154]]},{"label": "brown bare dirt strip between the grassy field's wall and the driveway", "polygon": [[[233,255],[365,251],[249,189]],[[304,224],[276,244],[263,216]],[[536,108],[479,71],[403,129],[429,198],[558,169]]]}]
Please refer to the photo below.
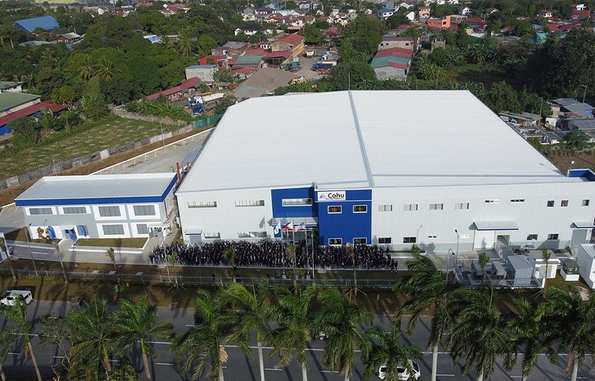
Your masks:
[{"label": "brown bare dirt strip between the grassy field's wall and the driveway", "polygon": [[[202,130],[207,130],[208,128],[202,129]],[[202,131],[202,130],[191,130],[186,132],[185,134],[182,135],[176,135],[174,137],[171,137],[169,139],[165,140],[165,144],[169,144],[169,143],[173,143],[176,142],[177,140],[181,140],[184,137],[188,137],[191,135],[195,135],[198,134],[198,132]],[[92,174],[96,171],[100,171],[101,169],[104,169],[108,166],[112,166],[113,164],[118,164],[120,161],[125,161],[128,160],[132,157],[138,156],[140,154],[144,154],[145,152],[149,152],[152,149],[157,149],[159,147],[162,146],[162,142],[154,142],[153,144],[149,144],[145,147],[142,148],[138,148],[138,149],[132,149],[131,151],[128,152],[122,152],[120,154],[115,154],[111,157],[108,157],[107,159],[101,160],[101,161],[96,161],[94,163],[91,164],[86,164],[84,166],[79,166],[77,168],[74,169],[70,169],[68,171],[64,171],[63,175],[88,175],[88,174]],[[21,193],[23,193],[27,188],[29,188],[30,186],[33,185],[33,183],[35,183],[35,181],[31,181],[30,183],[23,185],[23,186],[16,186],[14,188],[10,188],[10,189],[6,189],[4,191],[0,192],[0,205],[7,205],[10,203],[14,202],[14,199],[20,195]]]}]

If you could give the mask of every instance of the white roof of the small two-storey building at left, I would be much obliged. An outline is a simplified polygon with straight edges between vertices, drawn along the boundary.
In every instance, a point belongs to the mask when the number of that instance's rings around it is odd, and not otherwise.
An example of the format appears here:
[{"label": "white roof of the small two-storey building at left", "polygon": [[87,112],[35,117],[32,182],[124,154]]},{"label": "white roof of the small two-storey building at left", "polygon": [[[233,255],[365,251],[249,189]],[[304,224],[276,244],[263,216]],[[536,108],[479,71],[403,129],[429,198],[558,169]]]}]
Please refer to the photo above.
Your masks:
[{"label": "white roof of the small two-storey building at left", "polygon": [[56,200],[161,196],[176,174],[46,176],[16,198]]}]

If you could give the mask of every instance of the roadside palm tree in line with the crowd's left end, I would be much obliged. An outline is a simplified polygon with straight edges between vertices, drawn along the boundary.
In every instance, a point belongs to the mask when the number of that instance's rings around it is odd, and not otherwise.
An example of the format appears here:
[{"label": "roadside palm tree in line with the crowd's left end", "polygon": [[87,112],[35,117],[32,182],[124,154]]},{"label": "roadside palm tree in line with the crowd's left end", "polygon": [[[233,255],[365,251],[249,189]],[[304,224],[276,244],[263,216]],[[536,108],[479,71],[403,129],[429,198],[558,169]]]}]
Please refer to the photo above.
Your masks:
[{"label": "roadside palm tree in line with the crowd's left end", "polygon": [[140,298],[139,303],[132,300],[120,300],[120,309],[113,314],[113,325],[118,333],[118,340],[122,348],[130,348],[140,342],[142,362],[145,364],[145,375],[151,380],[149,356],[157,358],[157,352],[148,342],[151,339],[169,339],[172,336],[171,322],[159,322],[157,307],[149,304],[147,294]]}]

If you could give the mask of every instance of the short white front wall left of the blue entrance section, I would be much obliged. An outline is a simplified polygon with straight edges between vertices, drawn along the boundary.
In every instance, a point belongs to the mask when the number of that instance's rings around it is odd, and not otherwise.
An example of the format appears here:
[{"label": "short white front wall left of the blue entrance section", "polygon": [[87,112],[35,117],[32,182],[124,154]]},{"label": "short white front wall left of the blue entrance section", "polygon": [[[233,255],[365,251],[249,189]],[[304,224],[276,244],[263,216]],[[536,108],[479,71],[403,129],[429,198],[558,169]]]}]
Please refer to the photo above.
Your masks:
[{"label": "short white front wall left of the blue entrance section", "polygon": [[[184,242],[190,242],[186,231],[203,230],[203,242],[215,239],[205,235],[219,233],[221,239],[239,240],[239,232],[266,232],[273,237],[273,207],[270,189],[248,189],[234,191],[209,191],[178,193],[178,208]],[[263,206],[237,207],[236,201],[264,200]],[[188,203],[212,203],[217,207],[188,207]],[[256,239],[260,240],[262,238]],[[250,240],[242,238],[241,240]]]}]

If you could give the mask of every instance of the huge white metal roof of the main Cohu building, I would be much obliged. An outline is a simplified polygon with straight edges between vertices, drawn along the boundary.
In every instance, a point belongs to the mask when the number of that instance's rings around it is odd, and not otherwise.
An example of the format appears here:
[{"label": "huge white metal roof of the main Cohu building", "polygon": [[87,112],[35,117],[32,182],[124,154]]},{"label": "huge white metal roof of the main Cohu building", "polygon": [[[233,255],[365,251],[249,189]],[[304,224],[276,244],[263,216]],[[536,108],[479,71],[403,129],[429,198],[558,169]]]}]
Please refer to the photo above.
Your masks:
[{"label": "huge white metal roof of the main Cohu building", "polygon": [[340,91],[230,107],[178,193],[561,181],[468,91]]}]

